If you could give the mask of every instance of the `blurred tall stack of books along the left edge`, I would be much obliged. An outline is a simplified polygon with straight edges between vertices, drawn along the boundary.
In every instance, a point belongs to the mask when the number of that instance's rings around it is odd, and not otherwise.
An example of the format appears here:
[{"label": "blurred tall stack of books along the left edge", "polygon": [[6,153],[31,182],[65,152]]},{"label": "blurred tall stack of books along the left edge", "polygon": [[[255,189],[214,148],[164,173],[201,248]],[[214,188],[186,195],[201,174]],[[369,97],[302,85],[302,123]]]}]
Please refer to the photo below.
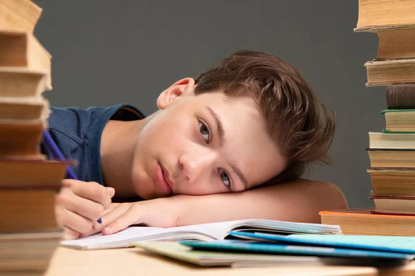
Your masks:
[{"label": "blurred tall stack of books along the left edge", "polygon": [[50,55],[33,36],[42,9],[0,1],[0,273],[43,274],[62,239],[55,195],[66,163],[40,152]]}]

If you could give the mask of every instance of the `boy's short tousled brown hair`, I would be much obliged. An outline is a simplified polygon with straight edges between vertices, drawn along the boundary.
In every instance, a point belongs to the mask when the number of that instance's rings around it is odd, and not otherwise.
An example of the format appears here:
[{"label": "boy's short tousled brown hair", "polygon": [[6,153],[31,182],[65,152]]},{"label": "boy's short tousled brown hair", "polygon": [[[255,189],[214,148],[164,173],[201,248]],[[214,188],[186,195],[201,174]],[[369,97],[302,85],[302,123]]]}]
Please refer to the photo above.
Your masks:
[{"label": "boy's short tousled brown hair", "polygon": [[222,90],[229,97],[249,95],[257,102],[266,128],[286,169],[266,184],[300,177],[326,155],[335,132],[335,114],[326,110],[311,86],[291,63],[264,52],[243,50],[196,77],[194,93]]}]

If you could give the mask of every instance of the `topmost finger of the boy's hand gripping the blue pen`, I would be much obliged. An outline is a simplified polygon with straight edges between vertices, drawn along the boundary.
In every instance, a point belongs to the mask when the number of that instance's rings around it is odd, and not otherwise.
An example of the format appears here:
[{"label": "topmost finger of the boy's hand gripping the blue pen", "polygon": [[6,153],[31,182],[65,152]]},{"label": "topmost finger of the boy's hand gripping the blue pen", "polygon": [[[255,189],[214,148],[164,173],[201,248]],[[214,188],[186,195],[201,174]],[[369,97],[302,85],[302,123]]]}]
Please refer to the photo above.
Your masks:
[{"label": "topmost finger of the boy's hand gripping the blue pen", "polygon": [[107,190],[106,187],[97,182],[71,181],[71,189],[75,195],[98,202],[105,209],[111,205],[111,188]]}]

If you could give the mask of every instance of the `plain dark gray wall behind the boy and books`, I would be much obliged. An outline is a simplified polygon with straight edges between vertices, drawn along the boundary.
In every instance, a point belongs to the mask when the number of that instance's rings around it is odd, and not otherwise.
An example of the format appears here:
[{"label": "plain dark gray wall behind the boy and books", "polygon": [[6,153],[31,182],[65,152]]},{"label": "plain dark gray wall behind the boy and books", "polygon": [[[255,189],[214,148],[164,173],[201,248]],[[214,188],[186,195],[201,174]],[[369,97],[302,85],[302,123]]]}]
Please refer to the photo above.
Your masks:
[{"label": "plain dark gray wall behind the boy and books", "polygon": [[351,208],[372,206],[367,132],[385,125],[386,99],[384,87],[365,87],[378,39],[353,32],[358,0],[35,2],[44,8],[35,35],[53,55],[44,95],[54,106],[128,102],[149,114],[164,88],[236,50],[293,63],[338,116],[334,164],[308,178],[338,185]]}]

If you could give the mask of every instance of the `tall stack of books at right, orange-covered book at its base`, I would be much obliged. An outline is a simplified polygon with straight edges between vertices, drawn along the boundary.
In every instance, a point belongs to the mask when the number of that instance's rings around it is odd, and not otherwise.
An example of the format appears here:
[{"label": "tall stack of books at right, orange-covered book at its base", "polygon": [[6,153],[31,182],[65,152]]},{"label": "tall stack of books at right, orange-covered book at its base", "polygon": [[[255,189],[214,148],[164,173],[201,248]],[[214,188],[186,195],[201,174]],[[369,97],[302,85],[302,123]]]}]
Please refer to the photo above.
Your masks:
[{"label": "tall stack of books at right, orange-covered book at its base", "polygon": [[[415,1],[360,0],[356,32],[378,35],[366,86],[386,86],[382,132],[369,132],[375,208],[322,212],[345,234],[415,235]],[[383,107],[385,108],[385,107]]]}]

